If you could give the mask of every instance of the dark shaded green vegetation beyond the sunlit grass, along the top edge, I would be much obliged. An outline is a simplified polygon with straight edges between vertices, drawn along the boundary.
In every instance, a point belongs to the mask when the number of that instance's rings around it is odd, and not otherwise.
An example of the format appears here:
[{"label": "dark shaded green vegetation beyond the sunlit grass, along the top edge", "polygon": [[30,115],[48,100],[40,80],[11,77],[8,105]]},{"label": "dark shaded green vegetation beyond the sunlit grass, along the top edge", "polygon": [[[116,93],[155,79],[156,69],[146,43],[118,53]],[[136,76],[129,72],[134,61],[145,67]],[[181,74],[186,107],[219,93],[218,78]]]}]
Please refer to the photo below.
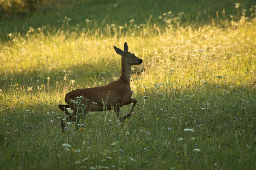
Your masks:
[{"label": "dark shaded green vegetation beyond the sunlit grass, along the top edge", "polygon": [[[235,8],[236,3],[239,8]],[[169,17],[178,20],[180,26],[199,27],[215,21],[225,27],[227,20],[253,18],[255,7],[254,0],[1,0],[0,37],[3,40],[8,38],[6,33],[25,34],[29,27],[54,26],[72,32],[100,28],[106,23],[123,26],[131,19],[141,24],[147,23],[151,15],[151,23],[165,27],[164,17],[159,16],[169,11]],[[71,20],[63,28],[65,17]],[[88,24],[86,19],[92,22]]]}]

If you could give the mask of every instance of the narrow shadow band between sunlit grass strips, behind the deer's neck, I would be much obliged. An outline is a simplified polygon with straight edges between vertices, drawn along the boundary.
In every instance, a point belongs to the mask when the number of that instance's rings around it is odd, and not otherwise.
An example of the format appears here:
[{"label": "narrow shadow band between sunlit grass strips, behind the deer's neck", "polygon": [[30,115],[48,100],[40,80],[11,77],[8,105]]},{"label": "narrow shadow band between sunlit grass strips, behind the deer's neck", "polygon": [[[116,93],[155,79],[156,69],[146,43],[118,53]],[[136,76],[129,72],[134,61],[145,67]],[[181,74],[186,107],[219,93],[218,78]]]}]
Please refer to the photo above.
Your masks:
[{"label": "narrow shadow band between sunlit grass strips, behind the deer's neck", "polygon": [[[0,86],[6,92],[8,92],[8,89],[10,87],[12,88],[12,86],[15,86],[15,88],[23,86],[25,89],[33,86],[33,89],[35,89],[38,86],[38,88],[41,88],[41,86],[47,88],[46,86],[49,84],[51,90],[57,91],[62,91],[62,88],[65,87],[73,89],[103,86],[118,79],[121,75],[121,58],[116,62],[107,61],[108,59],[104,59],[97,63],[97,65],[94,63],[80,62],[74,65],[66,65],[62,68],[57,66],[51,70],[37,70],[36,68],[22,70],[22,72],[18,72],[18,70],[9,70],[9,72],[1,70],[3,77],[1,77]],[[107,66],[106,63],[108,63]],[[132,68],[132,75],[140,75],[141,72],[145,71],[146,65],[135,65],[132,66]],[[7,75],[7,77],[5,75]],[[50,77],[49,83],[47,77]],[[33,94],[34,90],[32,90],[31,93]]]}]

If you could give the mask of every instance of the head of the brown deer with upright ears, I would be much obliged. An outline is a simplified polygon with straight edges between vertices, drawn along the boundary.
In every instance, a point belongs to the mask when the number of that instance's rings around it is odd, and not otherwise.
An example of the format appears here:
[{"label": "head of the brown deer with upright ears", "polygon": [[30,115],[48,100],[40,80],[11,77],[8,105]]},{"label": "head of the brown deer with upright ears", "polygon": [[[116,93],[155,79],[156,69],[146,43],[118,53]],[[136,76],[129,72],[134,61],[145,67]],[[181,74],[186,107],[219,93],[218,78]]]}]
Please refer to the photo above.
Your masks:
[{"label": "head of the brown deer with upright ears", "polygon": [[125,42],[123,50],[114,46],[114,49],[117,54],[122,56],[122,60],[126,61],[129,65],[137,65],[142,63],[142,59],[137,58],[134,54],[128,52],[128,45]]}]

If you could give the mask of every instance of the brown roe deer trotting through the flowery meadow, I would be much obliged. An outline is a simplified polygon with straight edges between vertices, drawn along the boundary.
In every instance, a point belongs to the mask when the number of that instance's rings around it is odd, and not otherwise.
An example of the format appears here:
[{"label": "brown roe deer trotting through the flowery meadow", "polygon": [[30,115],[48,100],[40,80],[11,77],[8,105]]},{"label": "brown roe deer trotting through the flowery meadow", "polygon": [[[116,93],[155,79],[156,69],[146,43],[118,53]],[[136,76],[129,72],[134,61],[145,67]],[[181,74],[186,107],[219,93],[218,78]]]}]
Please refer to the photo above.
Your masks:
[{"label": "brown roe deer trotting through the flowery meadow", "polygon": [[[65,113],[69,115],[66,118],[68,121],[76,121],[74,115],[76,115],[77,106],[70,103],[70,100],[75,100],[78,96],[83,96],[83,99],[87,100],[86,111],[103,111],[103,107],[106,105],[107,110],[114,108],[116,116],[121,122],[130,117],[137,102],[135,98],[131,98],[133,93],[130,89],[130,67],[131,65],[141,64],[142,59],[137,58],[134,54],[128,52],[128,45],[126,42],[124,43],[124,50],[121,50],[116,46],[114,46],[114,49],[117,54],[122,56],[122,72],[120,78],[105,86],[80,88],[66,93],[65,102],[68,103],[68,105],[59,105],[59,108],[62,111],[65,110]],[[107,103],[102,103],[106,100]],[[133,103],[133,106],[130,109],[130,112],[123,118],[120,113],[120,108],[131,103]],[[70,115],[66,108],[71,108],[73,110],[73,115]],[[64,130],[64,127],[64,122],[62,121],[62,130]]]}]

